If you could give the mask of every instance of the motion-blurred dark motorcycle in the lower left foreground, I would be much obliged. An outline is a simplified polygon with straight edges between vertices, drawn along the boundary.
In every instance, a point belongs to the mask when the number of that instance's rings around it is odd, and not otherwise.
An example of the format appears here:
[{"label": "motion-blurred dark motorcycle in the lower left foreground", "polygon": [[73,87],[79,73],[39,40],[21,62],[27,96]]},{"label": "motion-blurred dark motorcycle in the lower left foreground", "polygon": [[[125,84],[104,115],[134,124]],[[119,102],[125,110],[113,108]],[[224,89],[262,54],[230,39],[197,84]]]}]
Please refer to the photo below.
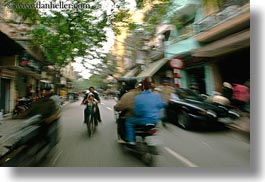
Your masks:
[{"label": "motion-blurred dark motorcycle in the lower left foreground", "polygon": [[[59,119],[45,124],[41,115],[21,120],[19,130],[7,135],[2,140],[0,149],[8,146],[0,155],[1,167],[32,167],[38,166],[52,155],[59,142]],[[2,150],[3,151],[3,150]]]}]

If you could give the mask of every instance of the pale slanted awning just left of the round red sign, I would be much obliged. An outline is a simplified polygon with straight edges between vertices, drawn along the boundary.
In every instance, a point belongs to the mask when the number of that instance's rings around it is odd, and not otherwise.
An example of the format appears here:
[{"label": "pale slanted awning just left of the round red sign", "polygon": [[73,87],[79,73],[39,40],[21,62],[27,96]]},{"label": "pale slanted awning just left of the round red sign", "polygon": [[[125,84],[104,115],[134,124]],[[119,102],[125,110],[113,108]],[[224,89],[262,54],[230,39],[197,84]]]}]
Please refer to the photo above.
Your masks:
[{"label": "pale slanted awning just left of the round red sign", "polygon": [[136,77],[144,78],[147,76],[153,76],[164,64],[168,62],[169,58],[163,58],[153,63],[150,63],[146,66],[146,68]]}]

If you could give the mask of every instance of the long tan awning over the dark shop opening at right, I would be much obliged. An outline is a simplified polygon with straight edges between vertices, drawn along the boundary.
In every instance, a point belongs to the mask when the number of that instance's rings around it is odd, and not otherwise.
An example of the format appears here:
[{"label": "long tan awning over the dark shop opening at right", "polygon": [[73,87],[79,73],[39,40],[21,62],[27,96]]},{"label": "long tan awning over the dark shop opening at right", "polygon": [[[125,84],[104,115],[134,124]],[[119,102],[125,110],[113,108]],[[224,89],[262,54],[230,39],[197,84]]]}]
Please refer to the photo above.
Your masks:
[{"label": "long tan awning over the dark shop opening at right", "polygon": [[192,52],[194,57],[215,57],[250,46],[250,31],[245,30],[207,44]]}]

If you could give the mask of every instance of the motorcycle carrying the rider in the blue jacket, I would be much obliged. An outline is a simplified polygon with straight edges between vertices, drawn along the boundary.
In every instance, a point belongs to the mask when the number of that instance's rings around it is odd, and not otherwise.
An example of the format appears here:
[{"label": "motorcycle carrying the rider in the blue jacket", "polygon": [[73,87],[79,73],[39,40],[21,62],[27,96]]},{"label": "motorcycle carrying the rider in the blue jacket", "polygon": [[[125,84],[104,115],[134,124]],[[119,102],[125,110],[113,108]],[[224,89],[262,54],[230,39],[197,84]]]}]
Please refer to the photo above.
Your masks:
[{"label": "motorcycle carrying the rider in the blue jacket", "polygon": [[[159,140],[157,138],[158,128],[156,124],[148,123],[146,125],[139,125],[135,127],[135,138],[136,145],[130,147],[126,143],[125,139],[125,127],[124,120],[118,118],[118,127],[117,133],[119,141],[122,139],[124,142],[119,142],[124,151],[131,152],[135,154],[145,165],[154,166],[155,165],[155,156],[159,155],[158,144]],[[123,126],[121,126],[123,125]]]}]

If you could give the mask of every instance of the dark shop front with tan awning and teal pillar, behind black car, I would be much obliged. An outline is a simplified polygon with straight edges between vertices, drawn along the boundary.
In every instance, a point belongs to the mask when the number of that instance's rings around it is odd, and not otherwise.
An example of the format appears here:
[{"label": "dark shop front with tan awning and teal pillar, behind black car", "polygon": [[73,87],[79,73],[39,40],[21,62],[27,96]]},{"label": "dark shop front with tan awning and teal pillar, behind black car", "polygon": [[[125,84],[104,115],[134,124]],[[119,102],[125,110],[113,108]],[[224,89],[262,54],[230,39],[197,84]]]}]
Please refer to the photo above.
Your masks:
[{"label": "dark shop front with tan awning and teal pillar, behind black car", "polygon": [[250,79],[250,31],[209,43],[193,51],[192,56],[203,60],[207,94],[222,92],[223,82],[243,84]]}]

